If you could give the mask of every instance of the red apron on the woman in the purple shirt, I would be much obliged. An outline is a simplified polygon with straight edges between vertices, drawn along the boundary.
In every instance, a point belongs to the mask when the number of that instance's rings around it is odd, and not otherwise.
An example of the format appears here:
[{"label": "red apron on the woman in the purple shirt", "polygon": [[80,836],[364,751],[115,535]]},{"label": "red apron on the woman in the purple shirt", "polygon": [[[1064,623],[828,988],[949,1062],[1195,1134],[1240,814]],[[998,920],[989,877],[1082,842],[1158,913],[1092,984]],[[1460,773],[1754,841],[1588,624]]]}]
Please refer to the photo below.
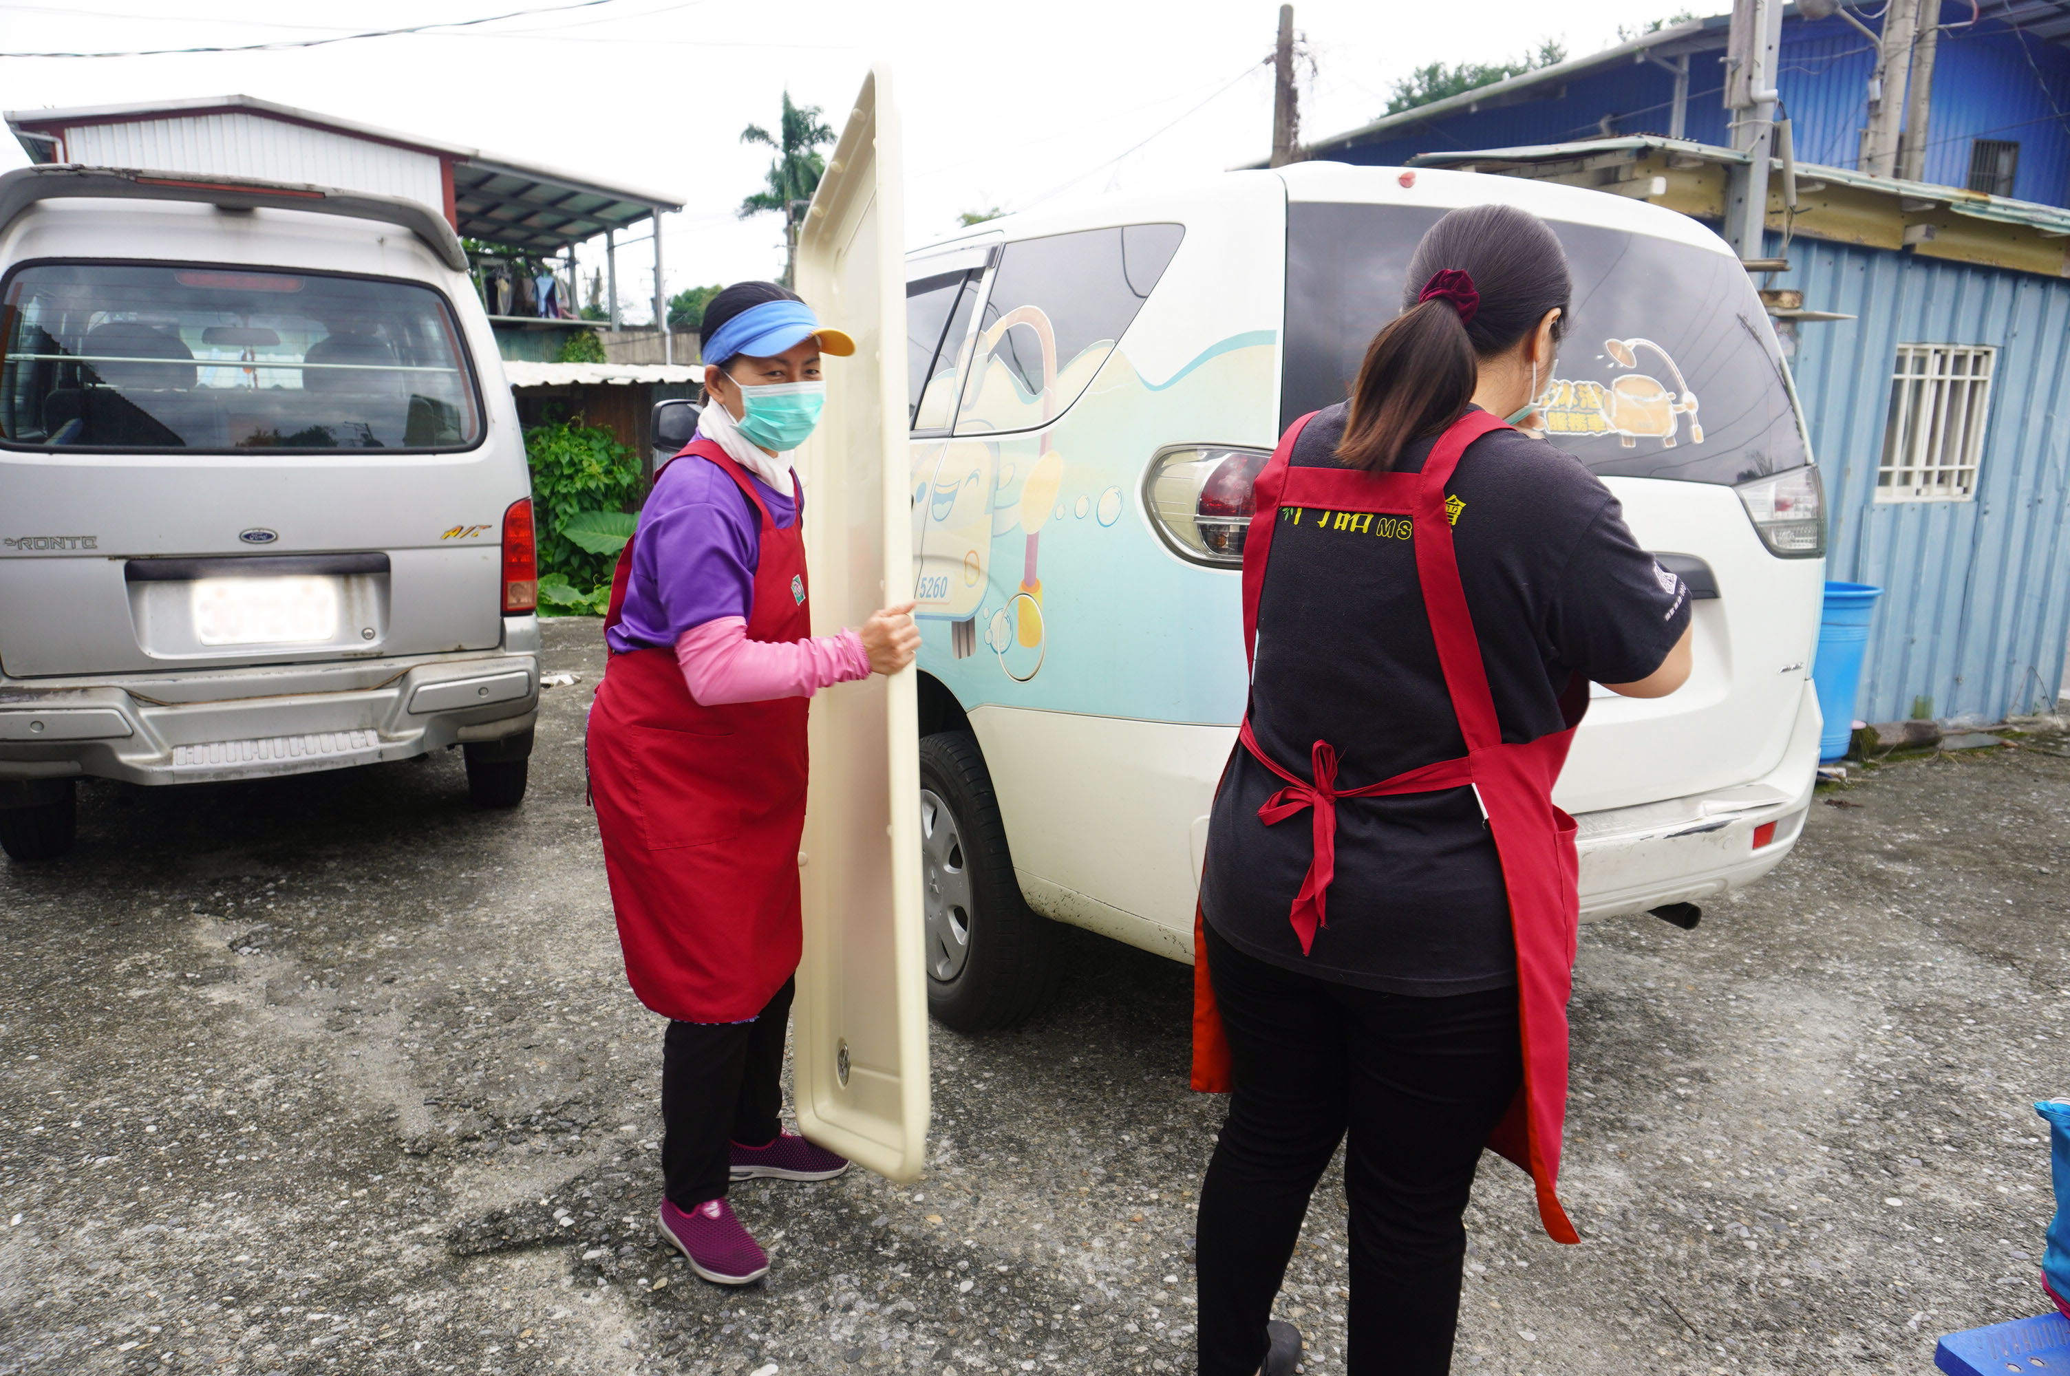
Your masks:
[{"label": "red apron on the woman in the purple shirt", "polygon": [[[718,466],[762,519],[747,639],[811,635],[803,495],[797,519],[778,530],[753,480],[718,445],[691,441],[669,463],[683,457]],[[631,567],[627,540],[607,631],[625,608]],[[797,970],[807,704],[700,706],[675,648],[613,654],[604,668],[590,708],[590,801],[625,977],[664,1018],[745,1022]]]}]

